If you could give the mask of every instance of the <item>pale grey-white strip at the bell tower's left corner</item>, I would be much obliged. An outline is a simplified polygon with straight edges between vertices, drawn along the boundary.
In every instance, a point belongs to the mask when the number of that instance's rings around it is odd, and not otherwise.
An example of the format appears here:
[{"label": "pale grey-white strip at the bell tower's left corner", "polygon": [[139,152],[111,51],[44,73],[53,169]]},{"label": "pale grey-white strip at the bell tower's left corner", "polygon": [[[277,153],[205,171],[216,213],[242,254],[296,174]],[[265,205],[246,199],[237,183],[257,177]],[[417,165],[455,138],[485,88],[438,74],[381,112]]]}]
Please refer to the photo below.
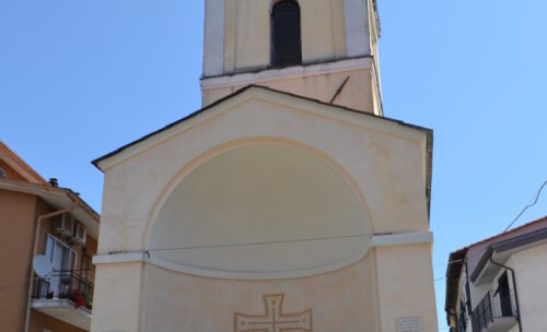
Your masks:
[{"label": "pale grey-white strip at the bell tower's left corner", "polygon": [[206,0],[203,26],[203,75],[224,71],[224,0]]}]

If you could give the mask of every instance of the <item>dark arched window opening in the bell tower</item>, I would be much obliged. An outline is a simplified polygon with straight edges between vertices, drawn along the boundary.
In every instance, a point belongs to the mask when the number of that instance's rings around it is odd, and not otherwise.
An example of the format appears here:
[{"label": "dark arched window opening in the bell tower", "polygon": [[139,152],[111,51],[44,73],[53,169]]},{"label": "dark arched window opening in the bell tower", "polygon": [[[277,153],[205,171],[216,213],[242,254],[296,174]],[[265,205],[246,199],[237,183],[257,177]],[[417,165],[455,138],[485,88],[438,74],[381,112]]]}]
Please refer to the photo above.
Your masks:
[{"label": "dark arched window opening in the bell tower", "polygon": [[301,63],[300,7],[296,1],[280,1],[271,10],[271,66]]}]

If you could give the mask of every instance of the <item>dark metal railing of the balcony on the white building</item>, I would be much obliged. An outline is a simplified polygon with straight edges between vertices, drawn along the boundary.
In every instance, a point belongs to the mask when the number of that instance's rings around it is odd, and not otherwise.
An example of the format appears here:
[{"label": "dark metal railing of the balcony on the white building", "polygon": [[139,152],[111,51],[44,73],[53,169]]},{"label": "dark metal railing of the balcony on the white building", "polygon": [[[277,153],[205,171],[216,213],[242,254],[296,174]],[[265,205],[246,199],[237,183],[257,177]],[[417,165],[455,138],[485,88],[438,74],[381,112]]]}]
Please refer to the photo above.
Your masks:
[{"label": "dark metal railing of the balcony on the white building", "polygon": [[488,292],[472,312],[473,331],[484,331],[499,318],[515,318],[514,292],[505,296]]}]

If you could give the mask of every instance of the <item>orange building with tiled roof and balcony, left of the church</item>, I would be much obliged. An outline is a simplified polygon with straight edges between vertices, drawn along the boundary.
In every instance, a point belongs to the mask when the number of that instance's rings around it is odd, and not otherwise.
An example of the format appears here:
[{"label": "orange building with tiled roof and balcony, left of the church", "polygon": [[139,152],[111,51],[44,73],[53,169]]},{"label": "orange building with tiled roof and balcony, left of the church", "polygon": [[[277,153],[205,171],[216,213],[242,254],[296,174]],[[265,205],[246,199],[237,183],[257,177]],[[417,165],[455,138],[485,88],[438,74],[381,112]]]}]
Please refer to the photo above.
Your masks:
[{"label": "orange building with tiled roof and balcony, left of the church", "polygon": [[[89,331],[98,214],[1,141],[0,224],[0,330]],[[46,278],[33,274],[35,254],[47,256],[54,266]]]}]

